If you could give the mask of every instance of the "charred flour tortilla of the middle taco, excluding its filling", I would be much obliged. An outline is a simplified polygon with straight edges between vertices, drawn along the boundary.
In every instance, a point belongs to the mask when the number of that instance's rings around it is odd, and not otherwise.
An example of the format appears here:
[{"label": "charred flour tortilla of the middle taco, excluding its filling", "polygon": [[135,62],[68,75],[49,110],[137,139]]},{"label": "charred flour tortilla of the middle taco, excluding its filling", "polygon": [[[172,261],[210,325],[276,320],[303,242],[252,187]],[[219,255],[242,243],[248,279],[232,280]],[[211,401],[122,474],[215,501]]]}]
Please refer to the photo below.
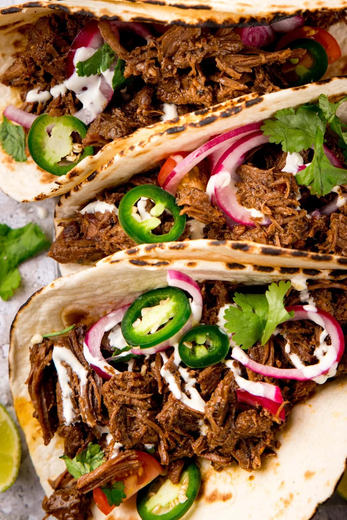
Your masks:
[{"label": "charred flour tortilla of the middle taco, excluding its filling", "polygon": [[[289,106],[314,102],[322,93],[327,93],[330,99],[341,97],[347,93],[347,78],[338,77],[312,83],[305,87],[279,90],[279,92],[263,96],[256,94],[242,96],[237,101],[229,101],[229,109],[226,109],[225,103],[223,103],[217,110],[209,109],[205,111],[198,122],[187,122],[183,126],[178,126],[179,123],[175,123],[164,131],[157,126],[158,132],[153,132],[147,141],[139,142],[135,146],[122,150],[93,175],[61,197],[55,211],[56,234],[59,235],[62,229],[59,223],[74,219],[75,212],[81,210],[97,193],[126,183],[136,173],[152,169],[161,159],[168,157],[177,150],[194,150],[216,134],[221,134],[241,125],[271,118],[277,110]],[[293,102],[293,100],[295,101]],[[310,253],[249,241],[202,239],[149,244],[121,251],[117,255],[118,258],[204,258],[207,252],[211,259],[229,263],[247,262],[262,266],[296,267],[300,260],[300,265],[310,269],[347,267],[347,258],[344,256]],[[63,275],[81,270],[83,267],[88,267],[88,265],[60,264]]]}]

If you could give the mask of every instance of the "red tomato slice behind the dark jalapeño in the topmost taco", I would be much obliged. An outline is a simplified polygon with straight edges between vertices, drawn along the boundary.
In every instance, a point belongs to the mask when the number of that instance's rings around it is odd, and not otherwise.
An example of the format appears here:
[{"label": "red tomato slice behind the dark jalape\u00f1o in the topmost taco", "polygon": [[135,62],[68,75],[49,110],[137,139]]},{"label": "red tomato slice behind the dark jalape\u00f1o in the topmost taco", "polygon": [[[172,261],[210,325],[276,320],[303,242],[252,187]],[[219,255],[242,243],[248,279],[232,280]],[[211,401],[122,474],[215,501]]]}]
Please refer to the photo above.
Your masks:
[{"label": "red tomato slice behind the dark jalape\u00f1o in the topmost taco", "polygon": [[290,47],[289,44],[291,42],[300,40],[301,38],[311,38],[311,40],[320,43],[320,45],[322,45],[326,50],[329,64],[341,58],[341,49],[335,38],[324,29],[320,29],[319,27],[309,27],[308,25],[303,25],[302,27],[293,29],[292,31],[289,31],[289,33],[285,34],[276,45],[276,50]]}]

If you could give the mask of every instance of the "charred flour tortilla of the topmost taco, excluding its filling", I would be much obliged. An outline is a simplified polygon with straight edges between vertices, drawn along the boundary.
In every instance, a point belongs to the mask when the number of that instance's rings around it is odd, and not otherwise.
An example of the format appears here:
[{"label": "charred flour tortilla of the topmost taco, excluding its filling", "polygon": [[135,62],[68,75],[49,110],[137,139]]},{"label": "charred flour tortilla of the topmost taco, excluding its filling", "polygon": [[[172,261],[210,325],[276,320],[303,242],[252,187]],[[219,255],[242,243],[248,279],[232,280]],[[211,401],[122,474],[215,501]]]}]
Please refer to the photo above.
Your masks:
[{"label": "charred flour tortilla of the topmost taco, excluding its filling", "polygon": [[[333,12],[342,10],[346,7],[343,0],[312,0],[305,3],[305,9],[331,10]],[[280,10],[279,10],[280,9]],[[98,18],[121,19],[124,21],[161,21],[168,23],[180,23],[188,25],[207,24],[212,27],[230,25],[237,23],[266,23],[281,16],[295,14],[302,11],[302,3],[299,0],[292,0],[291,4],[276,6],[271,2],[261,2],[246,4],[243,2],[228,2],[220,0],[213,2],[199,2],[198,0],[174,3],[169,2],[133,2],[133,1],[100,1],[85,0],[64,0],[61,2],[34,2],[22,4],[15,7],[0,10],[0,74],[3,73],[14,59],[14,54],[25,48],[27,33],[22,30],[22,26],[27,23],[35,22],[40,16],[55,12],[69,12],[71,14],[81,14]],[[347,60],[347,29],[343,22],[331,27],[331,31],[338,34],[338,38],[343,40],[343,57],[333,69],[328,70],[327,77],[341,75],[345,69]],[[290,91],[286,90],[286,95]],[[255,98],[263,99],[262,96],[250,95],[243,96],[237,100],[226,101],[222,105],[215,106],[219,112],[227,115],[227,120],[233,116],[237,107],[244,107],[245,103],[252,102]],[[266,96],[264,96],[264,99]],[[275,98],[276,99],[276,98]],[[21,105],[19,89],[6,87],[0,84],[0,113],[7,105],[12,103],[15,106]],[[211,109],[207,111],[211,113]],[[242,118],[241,118],[242,119]],[[169,122],[159,122],[145,128],[140,128],[130,136],[117,139],[102,148],[93,157],[87,157],[76,165],[67,175],[58,177],[43,171],[38,167],[31,157],[24,163],[17,163],[7,153],[0,153],[0,188],[10,197],[28,202],[42,200],[53,197],[71,190],[76,184],[93,174],[100,166],[106,165],[113,157],[123,153],[125,149],[137,143],[142,144],[151,136],[163,136],[165,132],[170,132],[174,125],[184,129],[191,128],[191,125],[198,125],[199,121],[206,121],[205,111],[203,114],[196,115],[191,113],[182,116],[178,120]],[[206,123],[203,123],[206,124]],[[230,126],[230,123],[229,123]],[[202,128],[203,129],[203,128]],[[173,134],[172,137],[175,137]]]}]

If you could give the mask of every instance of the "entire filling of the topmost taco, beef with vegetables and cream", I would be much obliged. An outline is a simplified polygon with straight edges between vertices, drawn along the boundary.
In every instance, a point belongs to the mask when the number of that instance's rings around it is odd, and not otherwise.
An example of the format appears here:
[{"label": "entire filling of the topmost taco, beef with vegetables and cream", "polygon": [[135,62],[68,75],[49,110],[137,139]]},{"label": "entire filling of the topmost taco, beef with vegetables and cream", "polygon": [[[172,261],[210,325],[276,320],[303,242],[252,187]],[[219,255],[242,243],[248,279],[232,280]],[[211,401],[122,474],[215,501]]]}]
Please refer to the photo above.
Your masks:
[{"label": "entire filling of the topmost taco, beef with vegetables and cream", "polygon": [[[327,29],[342,16],[217,30],[44,16],[25,26],[27,48],[1,76],[22,101],[6,107],[2,134],[15,132],[9,120],[22,125],[35,163],[65,175],[136,128],[321,79],[341,57]],[[14,149],[2,136],[16,161],[26,160],[25,133]]]}]

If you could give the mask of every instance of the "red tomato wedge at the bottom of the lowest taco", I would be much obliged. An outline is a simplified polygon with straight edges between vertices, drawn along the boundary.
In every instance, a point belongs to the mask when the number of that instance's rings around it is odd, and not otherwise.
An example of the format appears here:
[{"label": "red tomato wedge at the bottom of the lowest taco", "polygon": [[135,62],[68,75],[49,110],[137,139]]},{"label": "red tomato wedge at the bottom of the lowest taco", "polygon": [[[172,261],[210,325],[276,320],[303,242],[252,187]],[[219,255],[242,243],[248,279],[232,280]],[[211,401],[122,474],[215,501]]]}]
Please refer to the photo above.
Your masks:
[{"label": "red tomato wedge at the bottom of the lowest taco", "polygon": [[[137,460],[142,462],[142,467],[136,470],[135,473],[127,475],[125,478],[120,477],[118,479],[122,480],[125,486],[125,500],[135,495],[139,489],[147,486],[147,484],[157,478],[157,476],[163,471],[162,465],[149,453],[136,451],[136,455]],[[104,513],[105,515],[108,515],[112,509],[115,508],[115,505],[109,505],[107,497],[105,493],[102,492],[101,488],[93,489],[93,498],[101,513]]]}]

